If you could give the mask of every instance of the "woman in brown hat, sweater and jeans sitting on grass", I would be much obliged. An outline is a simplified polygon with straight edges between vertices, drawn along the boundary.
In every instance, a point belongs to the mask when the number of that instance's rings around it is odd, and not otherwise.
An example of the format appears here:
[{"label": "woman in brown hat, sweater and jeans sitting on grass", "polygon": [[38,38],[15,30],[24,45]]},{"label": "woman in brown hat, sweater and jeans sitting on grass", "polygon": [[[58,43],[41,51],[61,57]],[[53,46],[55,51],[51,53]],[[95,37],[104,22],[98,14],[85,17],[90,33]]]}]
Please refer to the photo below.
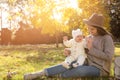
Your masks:
[{"label": "woman in brown hat, sweater and jeans sitting on grass", "polygon": [[92,14],[84,19],[91,36],[87,37],[88,65],[66,69],[61,64],[46,68],[43,71],[24,75],[24,80],[37,77],[59,75],[62,78],[108,76],[114,54],[114,44],[109,33],[103,28],[104,18],[101,14]]}]

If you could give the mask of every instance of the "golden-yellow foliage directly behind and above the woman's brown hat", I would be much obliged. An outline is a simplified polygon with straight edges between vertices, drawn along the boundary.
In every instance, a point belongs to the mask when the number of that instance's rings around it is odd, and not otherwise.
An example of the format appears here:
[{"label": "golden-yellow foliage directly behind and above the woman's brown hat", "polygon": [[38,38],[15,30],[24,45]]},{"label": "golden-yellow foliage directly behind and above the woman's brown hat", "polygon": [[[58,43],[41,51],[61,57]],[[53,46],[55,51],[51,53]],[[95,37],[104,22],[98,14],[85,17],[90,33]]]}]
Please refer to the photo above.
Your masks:
[{"label": "golden-yellow foliage directly behind and above the woman's brown hat", "polygon": [[[109,22],[110,17],[108,15],[108,11],[106,8],[106,5],[104,4],[103,0],[78,0],[79,1],[79,7],[82,9],[81,17],[82,19],[85,19],[91,16],[93,13],[99,13],[104,15],[104,21],[105,21],[105,29],[109,30]],[[82,20],[81,20],[82,22]],[[84,26],[83,23],[81,23],[81,26]],[[84,29],[85,32],[86,29]]]}]

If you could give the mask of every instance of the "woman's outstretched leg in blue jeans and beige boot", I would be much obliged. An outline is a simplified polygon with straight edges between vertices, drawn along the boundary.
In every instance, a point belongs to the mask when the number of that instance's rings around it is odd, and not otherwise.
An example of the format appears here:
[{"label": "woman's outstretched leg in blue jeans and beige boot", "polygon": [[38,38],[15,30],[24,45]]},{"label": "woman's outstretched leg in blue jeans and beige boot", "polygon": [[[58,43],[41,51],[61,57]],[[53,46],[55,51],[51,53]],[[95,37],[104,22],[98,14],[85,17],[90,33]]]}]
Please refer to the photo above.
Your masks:
[{"label": "woman's outstretched leg in blue jeans and beige boot", "polygon": [[67,70],[68,69],[64,68],[62,65],[56,65],[50,68],[46,68],[45,70],[42,71],[27,73],[24,75],[24,80],[32,80],[42,76],[53,76]]}]

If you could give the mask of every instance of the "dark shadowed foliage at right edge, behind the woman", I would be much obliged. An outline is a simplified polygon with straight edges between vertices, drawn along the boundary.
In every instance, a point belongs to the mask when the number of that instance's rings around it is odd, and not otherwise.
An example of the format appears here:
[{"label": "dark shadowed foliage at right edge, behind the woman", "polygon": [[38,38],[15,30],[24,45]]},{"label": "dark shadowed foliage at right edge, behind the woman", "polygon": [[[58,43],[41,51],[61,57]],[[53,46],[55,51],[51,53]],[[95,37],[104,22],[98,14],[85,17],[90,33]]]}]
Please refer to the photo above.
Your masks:
[{"label": "dark shadowed foliage at right edge, behind the woman", "polygon": [[116,38],[116,42],[120,42],[120,1],[119,0],[111,0],[110,4],[108,4],[109,14],[111,16],[110,27],[111,33]]}]

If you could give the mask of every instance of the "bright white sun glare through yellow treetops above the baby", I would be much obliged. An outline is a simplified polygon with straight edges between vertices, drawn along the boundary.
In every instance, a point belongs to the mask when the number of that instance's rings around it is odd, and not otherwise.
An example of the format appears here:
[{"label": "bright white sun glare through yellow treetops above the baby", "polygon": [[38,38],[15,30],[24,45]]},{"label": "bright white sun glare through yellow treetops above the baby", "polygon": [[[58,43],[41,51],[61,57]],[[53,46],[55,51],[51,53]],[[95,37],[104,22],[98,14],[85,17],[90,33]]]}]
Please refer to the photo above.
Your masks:
[{"label": "bright white sun glare through yellow treetops above the baby", "polygon": [[78,13],[81,13],[82,10],[78,7],[78,2],[77,0],[54,0],[57,6],[53,10],[53,18],[61,21],[62,20],[62,9],[65,8],[73,8],[75,9]]}]

